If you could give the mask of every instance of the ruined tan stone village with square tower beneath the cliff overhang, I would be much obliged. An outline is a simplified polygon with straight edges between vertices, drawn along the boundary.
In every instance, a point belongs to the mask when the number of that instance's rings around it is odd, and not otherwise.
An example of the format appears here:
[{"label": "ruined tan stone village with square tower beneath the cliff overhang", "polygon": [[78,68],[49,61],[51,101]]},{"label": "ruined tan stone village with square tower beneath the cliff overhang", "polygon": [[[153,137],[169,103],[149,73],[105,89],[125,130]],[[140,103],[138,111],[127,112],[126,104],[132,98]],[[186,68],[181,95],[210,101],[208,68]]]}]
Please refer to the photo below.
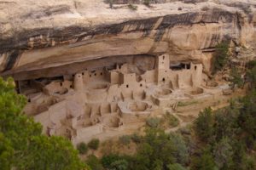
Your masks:
[{"label": "ruined tan stone village with square tower beneath the cliff overhang", "polygon": [[43,124],[44,133],[78,144],[122,132],[159,108],[175,111],[178,102],[222,95],[222,86],[204,79],[199,61],[172,62],[169,54],[161,54],[144,57],[138,65],[137,58],[73,75],[19,81],[18,90],[28,99],[25,112]]}]

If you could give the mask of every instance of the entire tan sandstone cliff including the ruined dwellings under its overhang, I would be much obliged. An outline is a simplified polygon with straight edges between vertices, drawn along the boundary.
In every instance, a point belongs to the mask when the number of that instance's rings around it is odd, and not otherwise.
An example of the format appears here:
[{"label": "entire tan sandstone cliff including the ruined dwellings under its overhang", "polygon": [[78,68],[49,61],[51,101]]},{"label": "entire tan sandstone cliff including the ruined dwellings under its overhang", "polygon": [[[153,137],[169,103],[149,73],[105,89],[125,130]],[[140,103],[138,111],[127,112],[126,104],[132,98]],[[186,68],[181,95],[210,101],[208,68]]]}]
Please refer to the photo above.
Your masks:
[{"label": "entire tan sandstone cliff including the ruined dwellings under its overhang", "polygon": [[220,42],[241,49],[231,61],[241,68],[255,58],[253,0],[14,2],[17,16],[0,3],[0,76],[14,77],[44,133],[73,144],[137,131],[156,112],[182,120],[227,103],[225,75],[209,73]]}]

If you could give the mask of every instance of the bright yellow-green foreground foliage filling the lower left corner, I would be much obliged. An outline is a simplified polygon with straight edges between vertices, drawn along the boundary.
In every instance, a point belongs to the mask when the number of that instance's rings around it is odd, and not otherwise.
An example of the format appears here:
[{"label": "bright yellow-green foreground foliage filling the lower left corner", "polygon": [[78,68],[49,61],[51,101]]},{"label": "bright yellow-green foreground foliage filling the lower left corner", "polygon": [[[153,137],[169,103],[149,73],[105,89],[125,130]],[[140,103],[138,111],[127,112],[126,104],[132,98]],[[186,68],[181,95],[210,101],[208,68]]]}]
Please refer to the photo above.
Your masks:
[{"label": "bright yellow-green foreground foliage filling the lower left corner", "polygon": [[42,135],[41,125],[21,113],[25,105],[14,81],[0,78],[1,169],[83,169],[73,145],[62,137]]}]

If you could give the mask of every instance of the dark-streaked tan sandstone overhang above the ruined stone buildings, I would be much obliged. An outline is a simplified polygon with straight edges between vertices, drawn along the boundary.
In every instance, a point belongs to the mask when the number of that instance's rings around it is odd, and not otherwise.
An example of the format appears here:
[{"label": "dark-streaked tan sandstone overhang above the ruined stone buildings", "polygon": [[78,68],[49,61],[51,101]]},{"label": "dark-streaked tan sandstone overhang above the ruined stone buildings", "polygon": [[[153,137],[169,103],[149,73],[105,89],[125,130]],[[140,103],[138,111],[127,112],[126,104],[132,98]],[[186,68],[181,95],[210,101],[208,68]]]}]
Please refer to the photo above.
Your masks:
[{"label": "dark-streaked tan sandstone overhang above the ruined stone buildings", "polygon": [[15,80],[166,53],[209,70],[218,42],[255,48],[253,0],[163,1],[136,11],[103,0],[6,0],[0,8],[0,74]]}]

